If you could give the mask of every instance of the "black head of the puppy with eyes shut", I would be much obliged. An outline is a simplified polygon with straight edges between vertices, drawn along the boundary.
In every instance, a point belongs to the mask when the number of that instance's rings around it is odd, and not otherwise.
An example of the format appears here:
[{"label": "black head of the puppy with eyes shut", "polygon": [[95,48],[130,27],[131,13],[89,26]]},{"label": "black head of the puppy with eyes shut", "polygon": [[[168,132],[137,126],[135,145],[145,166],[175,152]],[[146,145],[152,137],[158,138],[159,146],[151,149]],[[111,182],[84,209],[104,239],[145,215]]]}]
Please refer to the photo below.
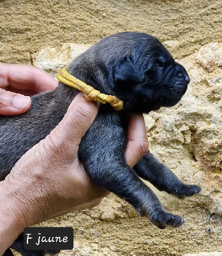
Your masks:
[{"label": "black head of the puppy with eyes shut", "polygon": [[148,113],[174,106],[186,92],[189,76],[185,68],[153,36],[118,33],[101,40],[94,49],[124,109]]}]

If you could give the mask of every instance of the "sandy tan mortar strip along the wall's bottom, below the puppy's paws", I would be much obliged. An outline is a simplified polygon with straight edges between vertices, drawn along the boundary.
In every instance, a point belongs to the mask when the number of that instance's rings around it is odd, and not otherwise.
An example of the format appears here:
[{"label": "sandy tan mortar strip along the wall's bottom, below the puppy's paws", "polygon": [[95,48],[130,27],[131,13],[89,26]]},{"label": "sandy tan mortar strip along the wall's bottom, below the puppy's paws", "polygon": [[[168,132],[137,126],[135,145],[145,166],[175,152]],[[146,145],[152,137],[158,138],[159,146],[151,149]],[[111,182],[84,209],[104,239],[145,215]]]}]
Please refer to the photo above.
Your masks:
[{"label": "sandy tan mortar strip along the wall's bottom, below the puppy's paws", "polygon": [[[145,218],[103,221],[85,214],[69,214],[66,225],[74,228],[74,250],[59,255],[155,255],[221,251],[222,219],[194,207],[182,214],[182,228],[159,230]],[[192,218],[189,216],[192,215]],[[74,217],[74,218],[73,218]],[[194,224],[195,223],[195,224]],[[64,225],[64,217],[57,218]],[[50,223],[44,223],[48,226]]]}]

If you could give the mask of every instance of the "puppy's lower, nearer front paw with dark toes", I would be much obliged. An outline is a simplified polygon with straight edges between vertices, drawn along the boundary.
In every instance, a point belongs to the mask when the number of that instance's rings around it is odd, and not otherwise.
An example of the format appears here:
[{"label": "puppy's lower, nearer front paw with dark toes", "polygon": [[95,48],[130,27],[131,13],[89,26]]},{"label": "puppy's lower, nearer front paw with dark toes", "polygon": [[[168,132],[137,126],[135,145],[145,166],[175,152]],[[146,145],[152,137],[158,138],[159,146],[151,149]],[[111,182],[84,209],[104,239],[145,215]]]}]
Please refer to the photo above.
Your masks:
[{"label": "puppy's lower, nearer front paw with dark toes", "polygon": [[156,225],[156,227],[165,229],[165,228],[179,228],[184,223],[184,220],[179,215],[173,215],[168,212],[154,212],[150,216],[151,222]]}]

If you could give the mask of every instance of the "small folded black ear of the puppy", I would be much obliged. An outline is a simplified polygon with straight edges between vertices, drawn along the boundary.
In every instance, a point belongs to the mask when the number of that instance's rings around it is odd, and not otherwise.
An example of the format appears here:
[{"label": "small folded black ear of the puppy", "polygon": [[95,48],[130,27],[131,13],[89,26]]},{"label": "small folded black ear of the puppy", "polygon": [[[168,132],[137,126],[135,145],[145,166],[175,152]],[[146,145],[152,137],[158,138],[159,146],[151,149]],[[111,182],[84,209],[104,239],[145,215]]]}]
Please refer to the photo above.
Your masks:
[{"label": "small folded black ear of the puppy", "polygon": [[133,61],[126,56],[115,68],[115,81],[133,81],[140,83],[142,74]]}]

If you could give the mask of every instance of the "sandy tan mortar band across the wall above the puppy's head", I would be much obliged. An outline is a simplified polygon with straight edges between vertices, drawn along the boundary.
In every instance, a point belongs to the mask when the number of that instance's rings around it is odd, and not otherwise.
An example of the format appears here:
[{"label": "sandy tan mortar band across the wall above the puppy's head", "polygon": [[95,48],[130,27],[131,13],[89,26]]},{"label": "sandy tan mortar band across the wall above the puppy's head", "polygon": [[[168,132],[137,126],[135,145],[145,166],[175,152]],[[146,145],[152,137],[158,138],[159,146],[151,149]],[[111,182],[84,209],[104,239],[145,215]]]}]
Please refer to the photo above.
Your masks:
[{"label": "sandy tan mortar band across the wall above the puppy's head", "polygon": [[64,42],[93,44],[120,31],[178,40],[175,58],[221,42],[221,0],[0,0],[0,60],[30,63],[30,53]]}]

